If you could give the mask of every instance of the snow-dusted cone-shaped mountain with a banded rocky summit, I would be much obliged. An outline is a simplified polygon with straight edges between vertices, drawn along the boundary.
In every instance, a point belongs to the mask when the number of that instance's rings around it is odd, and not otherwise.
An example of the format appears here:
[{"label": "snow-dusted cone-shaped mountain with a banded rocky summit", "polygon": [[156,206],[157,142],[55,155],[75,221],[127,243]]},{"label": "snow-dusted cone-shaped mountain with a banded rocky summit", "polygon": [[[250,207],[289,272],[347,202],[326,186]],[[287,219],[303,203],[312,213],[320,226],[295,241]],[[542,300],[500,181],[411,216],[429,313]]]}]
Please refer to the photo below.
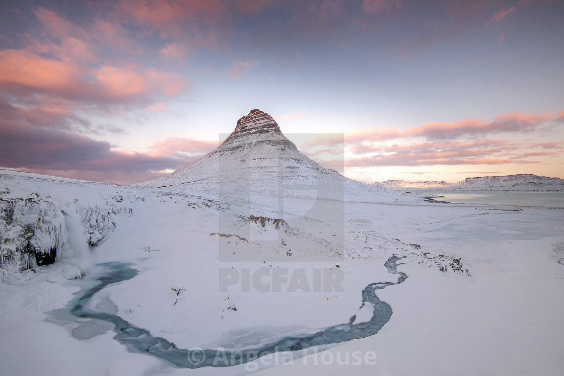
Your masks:
[{"label": "snow-dusted cone-shaped mountain with a banded rocky summit", "polygon": [[228,194],[328,198],[371,197],[393,201],[384,189],[345,178],[302,154],[266,112],[253,109],[214,151],[161,178],[139,183],[156,188]]}]

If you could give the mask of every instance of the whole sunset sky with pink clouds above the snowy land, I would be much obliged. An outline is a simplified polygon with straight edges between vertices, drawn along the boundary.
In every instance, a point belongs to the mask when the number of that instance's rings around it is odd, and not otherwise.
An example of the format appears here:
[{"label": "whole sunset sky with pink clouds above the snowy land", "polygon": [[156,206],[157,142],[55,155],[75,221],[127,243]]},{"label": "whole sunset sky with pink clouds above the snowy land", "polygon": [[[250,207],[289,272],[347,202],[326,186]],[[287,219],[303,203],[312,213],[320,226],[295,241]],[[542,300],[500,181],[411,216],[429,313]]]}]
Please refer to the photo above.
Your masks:
[{"label": "whole sunset sky with pink clouds above the snowy land", "polygon": [[0,0],[0,166],[143,182],[258,108],[362,182],[564,178],[563,35],[547,0]]}]

